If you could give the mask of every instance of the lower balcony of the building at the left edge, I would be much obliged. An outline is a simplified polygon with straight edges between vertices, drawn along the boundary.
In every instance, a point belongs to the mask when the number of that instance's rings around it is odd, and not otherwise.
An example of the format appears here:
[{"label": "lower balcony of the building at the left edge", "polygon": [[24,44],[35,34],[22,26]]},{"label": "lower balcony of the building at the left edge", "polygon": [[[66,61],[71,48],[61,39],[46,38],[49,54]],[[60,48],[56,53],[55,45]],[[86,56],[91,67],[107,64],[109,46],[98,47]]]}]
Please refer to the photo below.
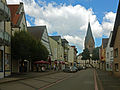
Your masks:
[{"label": "lower balcony of the building at the left edge", "polygon": [[11,37],[7,32],[0,32],[0,45],[10,45]]}]

